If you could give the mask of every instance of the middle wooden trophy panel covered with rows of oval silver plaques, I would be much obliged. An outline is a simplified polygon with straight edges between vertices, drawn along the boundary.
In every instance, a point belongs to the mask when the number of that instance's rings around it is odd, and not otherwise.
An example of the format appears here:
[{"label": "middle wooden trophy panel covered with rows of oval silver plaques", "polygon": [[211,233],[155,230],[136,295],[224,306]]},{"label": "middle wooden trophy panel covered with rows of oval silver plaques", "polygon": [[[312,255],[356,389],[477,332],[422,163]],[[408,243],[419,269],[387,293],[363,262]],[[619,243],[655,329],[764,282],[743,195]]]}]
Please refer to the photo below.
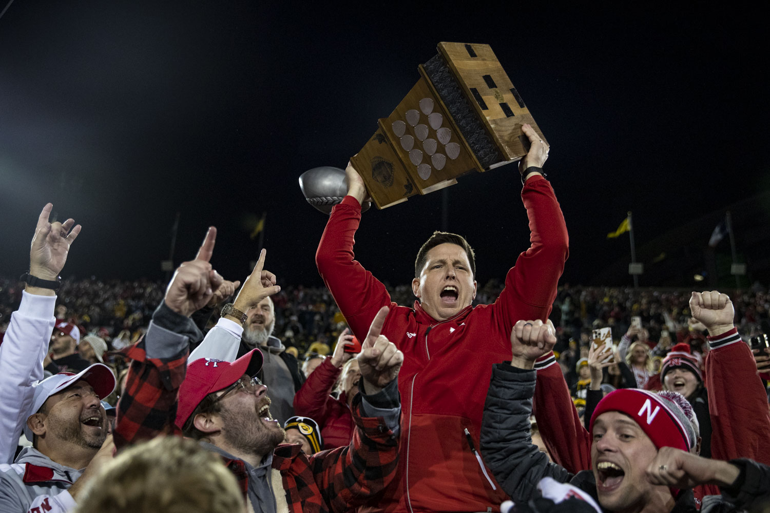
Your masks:
[{"label": "middle wooden trophy panel covered with rows of oval silver plaques", "polygon": [[424,77],[388,118],[380,119],[380,130],[390,138],[422,195],[456,184],[460,175],[483,170]]}]

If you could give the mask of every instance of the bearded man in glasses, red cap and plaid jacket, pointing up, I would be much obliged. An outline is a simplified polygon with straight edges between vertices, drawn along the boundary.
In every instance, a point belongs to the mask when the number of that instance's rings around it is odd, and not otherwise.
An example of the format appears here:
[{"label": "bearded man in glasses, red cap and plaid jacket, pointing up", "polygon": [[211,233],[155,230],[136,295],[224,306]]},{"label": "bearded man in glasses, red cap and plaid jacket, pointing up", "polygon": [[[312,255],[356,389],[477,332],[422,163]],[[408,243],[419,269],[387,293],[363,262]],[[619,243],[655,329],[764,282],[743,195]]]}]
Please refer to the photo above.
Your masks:
[{"label": "bearded man in glasses, red cap and plaid jacket, pointing up", "polygon": [[[270,415],[268,388],[256,378],[263,361],[257,349],[232,363],[192,361],[179,389],[176,426],[223,457],[253,511],[346,511],[367,504],[396,475],[403,354],[380,335],[387,313],[386,307],[377,314],[358,356],[350,445],[316,455],[279,445],[286,433]],[[212,335],[223,331],[207,338]]]}]

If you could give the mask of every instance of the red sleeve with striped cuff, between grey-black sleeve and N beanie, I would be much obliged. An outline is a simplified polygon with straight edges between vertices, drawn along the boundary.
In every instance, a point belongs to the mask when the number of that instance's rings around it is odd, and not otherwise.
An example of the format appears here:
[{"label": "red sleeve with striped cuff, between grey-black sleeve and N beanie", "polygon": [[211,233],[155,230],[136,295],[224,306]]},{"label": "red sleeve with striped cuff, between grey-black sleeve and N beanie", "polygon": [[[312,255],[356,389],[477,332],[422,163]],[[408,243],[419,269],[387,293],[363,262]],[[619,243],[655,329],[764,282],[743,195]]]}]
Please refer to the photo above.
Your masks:
[{"label": "red sleeve with striped cuff, between grey-black sleeve and N beanie", "polygon": [[577,416],[567,381],[553,353],[535,363],[534,417],[543,443],[556,463],[577,474],[591,468],[591,435]]}]

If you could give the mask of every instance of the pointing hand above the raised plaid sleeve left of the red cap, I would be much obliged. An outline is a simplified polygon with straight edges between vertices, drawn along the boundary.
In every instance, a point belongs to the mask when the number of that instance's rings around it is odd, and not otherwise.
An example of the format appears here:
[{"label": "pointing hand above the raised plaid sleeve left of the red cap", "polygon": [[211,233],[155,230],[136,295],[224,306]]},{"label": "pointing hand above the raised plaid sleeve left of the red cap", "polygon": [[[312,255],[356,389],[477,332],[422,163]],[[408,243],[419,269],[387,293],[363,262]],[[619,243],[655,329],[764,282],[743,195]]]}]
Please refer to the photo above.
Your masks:
[{"label": "pointing hand above the raised plaid sleeve left of the red cap", "polygon": [[206,238],[198,250],[196,258],[182,262],[174,272],[169,287],[166,288],[166,306],[176,313],[189,317],[193,312],[206,306],[224,281],[218,272],[211,268],[211,255],[216,242],[216,228],[206,232]]}]

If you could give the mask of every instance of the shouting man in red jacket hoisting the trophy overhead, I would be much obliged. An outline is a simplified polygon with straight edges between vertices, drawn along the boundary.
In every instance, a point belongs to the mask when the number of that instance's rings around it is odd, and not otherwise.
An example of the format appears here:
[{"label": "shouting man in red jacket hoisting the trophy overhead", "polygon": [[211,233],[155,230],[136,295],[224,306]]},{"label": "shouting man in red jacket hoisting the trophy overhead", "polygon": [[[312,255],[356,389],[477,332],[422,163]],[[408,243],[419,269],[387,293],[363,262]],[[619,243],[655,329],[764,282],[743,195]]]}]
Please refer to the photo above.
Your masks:
[{"label": "shouting man in red jacket hoisting the trophy overhead", "polygon": [[[353,257],[353,236],[367,195],[352,166],[346,197],[333,208],[316,264],[350,328],[366,335],[383,305],[383,327],[403,351],[399,389],[403,421],[400,478],[377,511],[497,511],[504,492],[477,453],[491,364],[511,358],[509,337],[521,318],[545,320],[567,258],[567,228],[542,165],[548,147],[529,125],[531,148],[521,161],[531,248],[508,271],[494,305],[476,296],[474,252],[464,238],[435,233],[420,248],[412,289],[414,308],[400,307]],[[491,509],[487,509],[491,508]]]}]

